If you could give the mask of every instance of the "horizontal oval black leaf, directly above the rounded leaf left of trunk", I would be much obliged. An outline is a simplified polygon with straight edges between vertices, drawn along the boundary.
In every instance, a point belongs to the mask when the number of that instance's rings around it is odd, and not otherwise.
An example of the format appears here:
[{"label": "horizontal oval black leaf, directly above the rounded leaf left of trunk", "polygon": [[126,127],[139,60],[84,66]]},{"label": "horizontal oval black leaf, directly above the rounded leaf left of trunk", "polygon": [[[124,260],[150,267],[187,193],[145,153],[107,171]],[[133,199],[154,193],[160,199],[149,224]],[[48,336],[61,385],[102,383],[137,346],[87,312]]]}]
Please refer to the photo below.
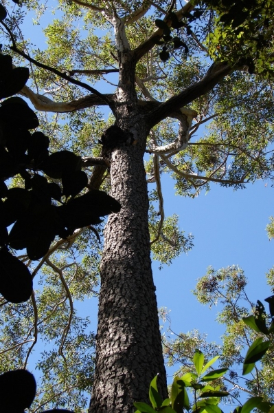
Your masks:
[{"label": "horizontal oval black leaf, directly above the rounded leaf left of trunk", "polygon": [[52,155],[41,165],[42,171],[54,179],[62,178],[64,173],[80,171],[81,157],[70,151],[59,151]]}]

